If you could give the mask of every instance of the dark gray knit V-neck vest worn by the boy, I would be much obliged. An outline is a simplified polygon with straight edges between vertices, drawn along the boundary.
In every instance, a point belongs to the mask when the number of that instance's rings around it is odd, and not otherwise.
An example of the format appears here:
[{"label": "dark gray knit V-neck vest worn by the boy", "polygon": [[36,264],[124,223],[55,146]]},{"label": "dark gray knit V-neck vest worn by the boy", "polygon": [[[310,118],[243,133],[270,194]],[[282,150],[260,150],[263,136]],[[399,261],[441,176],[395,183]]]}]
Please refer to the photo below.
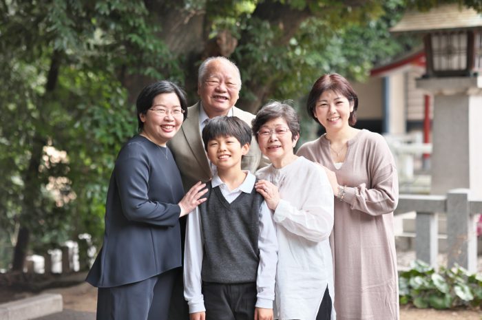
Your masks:
[{"label": "dark gray knit V-neck vest worn by the boy", "polygon": [[264,200],[253,188],[231,204],[219,186],[207,183],[207,201],[199,206],[204,248],[202,281],[221,284],[255,282],[260,262],[258,237]]}]

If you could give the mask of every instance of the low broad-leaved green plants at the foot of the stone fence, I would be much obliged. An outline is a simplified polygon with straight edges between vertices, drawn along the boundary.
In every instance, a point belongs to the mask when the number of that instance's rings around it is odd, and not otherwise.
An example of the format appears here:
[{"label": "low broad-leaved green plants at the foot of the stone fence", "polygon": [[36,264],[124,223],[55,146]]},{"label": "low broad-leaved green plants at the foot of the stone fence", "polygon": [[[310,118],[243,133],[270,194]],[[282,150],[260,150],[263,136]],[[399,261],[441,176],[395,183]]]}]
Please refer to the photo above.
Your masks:
[{"label": "low broad-leaved green plants at the foot of the stone fence", "polygon": [[400,304],[435,309],[482,307],[481,275],[470,274],[461,266],[440,267],[437,272],[418,260],[410,267],[399,277]]}]

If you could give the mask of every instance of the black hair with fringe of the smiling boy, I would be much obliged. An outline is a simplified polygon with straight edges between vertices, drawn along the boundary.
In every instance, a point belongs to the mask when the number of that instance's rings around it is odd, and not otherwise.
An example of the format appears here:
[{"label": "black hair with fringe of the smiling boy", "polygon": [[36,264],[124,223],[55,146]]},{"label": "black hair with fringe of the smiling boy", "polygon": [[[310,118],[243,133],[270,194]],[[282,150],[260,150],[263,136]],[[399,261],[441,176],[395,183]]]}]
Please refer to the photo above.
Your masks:
[{"label": "black hair with fringe of the smiling boy", "polygon": [[207,142],[218,137],[231,136],[240,142],[241,146],[251,143],[251,128],[238,117],[218,116],[207,122],[202,129],[202,142],[207,151]]}]

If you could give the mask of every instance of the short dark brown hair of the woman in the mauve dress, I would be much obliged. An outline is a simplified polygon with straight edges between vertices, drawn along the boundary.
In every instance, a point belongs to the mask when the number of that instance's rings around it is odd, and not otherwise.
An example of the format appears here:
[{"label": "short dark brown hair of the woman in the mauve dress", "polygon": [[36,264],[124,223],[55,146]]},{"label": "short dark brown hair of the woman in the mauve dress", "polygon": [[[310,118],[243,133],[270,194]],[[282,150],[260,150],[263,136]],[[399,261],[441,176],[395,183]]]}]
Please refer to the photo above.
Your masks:
[{"label": "short dark brown hair of the woman in the mauve dress", "polygon": [[347,98],[350,103],[353,103],[353,111],[350,112],[348,124],[352,126],[355,125],[355,123],[357,123],[358,96],[348,80],[339,74],[324,74],[313,84],[306,103],[306,111],[308,111],[308,115],[321,125],[319,120],[315,117],[315,107],[319,97],[326,91],[333,91],[337,94],[341,94]]}]

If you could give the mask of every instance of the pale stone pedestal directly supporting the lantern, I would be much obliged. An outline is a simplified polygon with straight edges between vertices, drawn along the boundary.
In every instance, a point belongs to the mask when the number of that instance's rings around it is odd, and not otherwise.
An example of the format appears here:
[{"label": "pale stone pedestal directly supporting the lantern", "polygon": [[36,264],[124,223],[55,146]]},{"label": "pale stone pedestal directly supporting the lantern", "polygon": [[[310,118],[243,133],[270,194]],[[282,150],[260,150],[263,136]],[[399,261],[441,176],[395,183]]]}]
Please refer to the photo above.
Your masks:
[{"label": "pale stone pedestal directly supporting the lantern", "polygon": [[434,96],[432,194],[470,189],[482,199],[482,76],[420,78]]}]

